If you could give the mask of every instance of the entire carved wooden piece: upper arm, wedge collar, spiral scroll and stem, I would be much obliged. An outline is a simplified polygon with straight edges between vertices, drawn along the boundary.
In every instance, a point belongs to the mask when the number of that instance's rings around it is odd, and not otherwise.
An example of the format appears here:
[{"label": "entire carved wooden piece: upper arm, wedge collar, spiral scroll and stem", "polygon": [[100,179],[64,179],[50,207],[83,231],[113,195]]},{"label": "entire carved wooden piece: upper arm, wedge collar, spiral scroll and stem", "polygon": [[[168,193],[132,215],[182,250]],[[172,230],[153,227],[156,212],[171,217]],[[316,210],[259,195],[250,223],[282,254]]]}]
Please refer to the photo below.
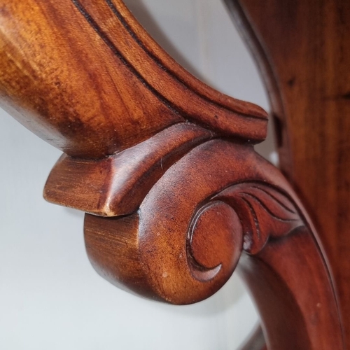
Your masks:
[{"label": "entire carved wooden piece: upper arm, wedge collar, spiral scroll and stem", "polygon": [[190,304],[237,267],[268,349],[344,349],[316,232],[253,150],[267,116],[183,70],[120,0],[2,0],[1,104],[64,155],[46,200],[87,212],[94,268]]}]

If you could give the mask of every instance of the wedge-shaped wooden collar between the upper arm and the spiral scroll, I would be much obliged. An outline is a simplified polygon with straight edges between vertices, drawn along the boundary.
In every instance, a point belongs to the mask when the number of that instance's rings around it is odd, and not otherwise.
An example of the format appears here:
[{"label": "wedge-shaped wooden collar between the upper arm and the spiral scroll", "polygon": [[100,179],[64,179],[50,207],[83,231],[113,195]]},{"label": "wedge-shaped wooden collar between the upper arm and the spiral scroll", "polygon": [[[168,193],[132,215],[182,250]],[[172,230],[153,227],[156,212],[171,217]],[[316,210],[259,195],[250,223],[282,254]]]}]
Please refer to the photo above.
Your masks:
[{"label": "wedge-shaped wooden collar between the upper arm and the spiral scroll", "polygon": [[63,155],[45,185],[45,200],[101,216],[132,214],[176,160],[214,134],[179,123],[101,160]]}]

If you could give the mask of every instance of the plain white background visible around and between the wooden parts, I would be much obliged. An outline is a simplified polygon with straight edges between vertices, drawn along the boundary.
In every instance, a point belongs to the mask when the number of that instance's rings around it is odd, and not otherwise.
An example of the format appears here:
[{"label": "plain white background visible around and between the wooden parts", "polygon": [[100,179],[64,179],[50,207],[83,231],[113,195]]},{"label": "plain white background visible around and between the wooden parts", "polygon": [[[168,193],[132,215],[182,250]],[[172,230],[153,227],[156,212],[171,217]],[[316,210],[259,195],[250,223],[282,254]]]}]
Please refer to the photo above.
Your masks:
[{"label": "plain white background visible around and between the wooden parts", "polygon": [[[186,69],[267,109],[251,57],[220,0],[128,0]],[[265,156],[272,141],[260,147]],[[0,349],[236,349],[257,321],[237,276],[187,307],[143,300],[94,272],[83,214],[42,199],[60,152],[0,114]]]}]

